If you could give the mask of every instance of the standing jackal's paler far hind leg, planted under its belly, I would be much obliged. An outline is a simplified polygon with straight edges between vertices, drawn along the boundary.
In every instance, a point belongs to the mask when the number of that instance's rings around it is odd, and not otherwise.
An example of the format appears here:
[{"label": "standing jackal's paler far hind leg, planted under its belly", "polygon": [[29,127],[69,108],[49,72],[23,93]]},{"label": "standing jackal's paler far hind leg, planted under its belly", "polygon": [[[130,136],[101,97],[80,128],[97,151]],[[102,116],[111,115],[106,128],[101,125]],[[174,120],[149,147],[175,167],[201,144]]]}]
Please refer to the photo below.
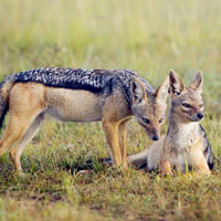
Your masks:
[{"label": "standing jackal's paler far hind leg, planted under its belly", "polygon": [[33,123],[30,125],[25,134],[21,137],[21,139],[13,146],[10,152],[11,160],[14,166],[14,170],[17,173],[22,172],[20,157],[24,147],[32,140],[35,134],[39,131],[40,126],[44,119],[44,113],[36,116]]}]

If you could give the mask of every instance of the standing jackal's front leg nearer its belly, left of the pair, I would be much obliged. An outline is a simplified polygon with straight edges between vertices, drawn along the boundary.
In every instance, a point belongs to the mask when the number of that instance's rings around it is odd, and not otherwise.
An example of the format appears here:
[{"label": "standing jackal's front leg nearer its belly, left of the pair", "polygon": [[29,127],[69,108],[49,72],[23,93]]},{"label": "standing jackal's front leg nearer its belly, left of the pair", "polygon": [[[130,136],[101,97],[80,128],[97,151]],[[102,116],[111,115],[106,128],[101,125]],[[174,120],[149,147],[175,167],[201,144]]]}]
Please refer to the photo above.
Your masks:
[{"label": "standing jackal's front leg nearer its belly, left of the pair", "polygon": [[122,154],[118,141],[118,123],[103,120],[102,125],[105,131],[107,144],[112,149],[114,164],[116,167],[118,167],[122,164]]}]

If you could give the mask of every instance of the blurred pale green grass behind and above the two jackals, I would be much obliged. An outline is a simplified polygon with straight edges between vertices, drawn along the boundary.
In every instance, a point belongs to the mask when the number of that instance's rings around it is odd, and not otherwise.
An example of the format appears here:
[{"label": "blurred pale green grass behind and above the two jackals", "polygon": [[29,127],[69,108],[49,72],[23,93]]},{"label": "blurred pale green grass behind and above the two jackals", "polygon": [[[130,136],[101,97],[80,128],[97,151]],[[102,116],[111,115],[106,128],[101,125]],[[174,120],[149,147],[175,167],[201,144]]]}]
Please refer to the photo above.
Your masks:
[{"label": "blurred pale green grass behind and above the two jackals", "polygon": [[128,69],[155,86],[201,70],[221,98],[220,0],[0,0],[0,77],[41,66]]}]

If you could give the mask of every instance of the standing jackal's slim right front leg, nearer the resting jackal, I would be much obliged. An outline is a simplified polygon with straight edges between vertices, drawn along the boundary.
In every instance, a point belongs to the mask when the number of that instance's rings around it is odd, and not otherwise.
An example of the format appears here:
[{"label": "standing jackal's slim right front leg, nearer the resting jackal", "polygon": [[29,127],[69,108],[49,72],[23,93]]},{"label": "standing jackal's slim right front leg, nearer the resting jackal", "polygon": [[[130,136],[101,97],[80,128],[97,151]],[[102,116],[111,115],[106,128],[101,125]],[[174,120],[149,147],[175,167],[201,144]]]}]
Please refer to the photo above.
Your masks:
[{"label": "standing jackal's slim right front leg, nearer the resting jackal", "polygon": [[124,120],[119,124],[118,134],[119,134],[119,148],[122,151],[122,164],[125,169],[127,166],[127,144],[126,144],[126,133],[127,133],[127,123],[128,120]]}]

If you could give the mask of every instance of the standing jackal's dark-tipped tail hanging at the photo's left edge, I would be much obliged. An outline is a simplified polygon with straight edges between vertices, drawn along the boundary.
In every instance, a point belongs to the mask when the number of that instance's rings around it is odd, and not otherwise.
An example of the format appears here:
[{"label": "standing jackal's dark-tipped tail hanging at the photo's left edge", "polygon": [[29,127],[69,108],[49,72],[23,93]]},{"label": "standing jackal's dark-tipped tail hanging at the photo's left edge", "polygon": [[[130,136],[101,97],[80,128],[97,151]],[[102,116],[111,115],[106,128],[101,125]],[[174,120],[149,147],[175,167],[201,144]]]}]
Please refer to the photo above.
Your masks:
[{"label": "standing jackal's dark-tipped tail hanging at the photo's left edge", "polygon": [[9,92],[12,87],[12,83],[2,82],[0,84],[0,129],[2,127],[7,112],[9,110]]}]

